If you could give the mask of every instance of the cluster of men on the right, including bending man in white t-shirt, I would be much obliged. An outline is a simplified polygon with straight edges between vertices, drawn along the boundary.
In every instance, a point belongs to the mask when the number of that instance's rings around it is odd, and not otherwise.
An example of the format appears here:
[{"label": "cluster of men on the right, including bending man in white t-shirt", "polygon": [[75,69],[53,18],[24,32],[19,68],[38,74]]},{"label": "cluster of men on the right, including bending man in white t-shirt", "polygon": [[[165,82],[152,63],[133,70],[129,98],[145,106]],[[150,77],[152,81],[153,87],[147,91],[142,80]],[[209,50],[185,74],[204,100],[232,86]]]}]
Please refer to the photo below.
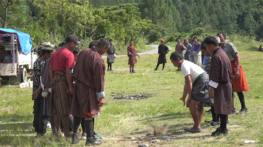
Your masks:
[{"label": "cluster of men on the right, including bending man in white t-shirt", "polygon": [[[194,37],[193,42],[195,39],[197,40]],[[187,42],[186,47],[188,47]],[[216,131],[212,132],[212,136],[228,135],[229,132],[226,128],[226,124],[229,122],[228,115],[249,113],[243,95],[243,92],[249,91],[249,88],[241,68],[238,51],[232,43],[226,42],[224,32],[218,33],[216,37],[206,37],[202,45],[195,42],[192,48],[199,48],[198,50],[193,49],[194,58],[197,57],[200,60],[198,55],[200,50],[207,56],[204,69],[197,62],[194,64],[185,60],[183,53],[179,51],[173,52],[170,56],[171,62],[180,68],[184,75],[185,85],[181,100],[184,105],[189,107],[195,124],[184,130],[191,133],[202,132],[200,125],[204,114],[203,106],[211,106],[212,120],[209,125],[218,127]],[[241,103],[239,112],[233,105],[234,92],[237,93]]]}]

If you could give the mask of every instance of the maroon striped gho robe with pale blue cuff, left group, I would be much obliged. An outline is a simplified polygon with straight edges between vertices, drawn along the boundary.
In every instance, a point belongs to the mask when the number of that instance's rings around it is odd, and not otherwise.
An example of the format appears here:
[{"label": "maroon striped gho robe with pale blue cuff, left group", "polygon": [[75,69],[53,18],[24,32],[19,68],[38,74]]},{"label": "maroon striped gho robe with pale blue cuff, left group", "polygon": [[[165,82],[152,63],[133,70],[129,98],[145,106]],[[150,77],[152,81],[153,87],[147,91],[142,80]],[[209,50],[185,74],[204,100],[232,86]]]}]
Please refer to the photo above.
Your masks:
[{"label": "maroon striped gho robe with pale blue cuff, left group", "polygon": [[105,64],[100,51],[93,47],[79,53],[72,77],[75,79],[71,114],[81,118],[99,116],[99,98],[104,93]]}]

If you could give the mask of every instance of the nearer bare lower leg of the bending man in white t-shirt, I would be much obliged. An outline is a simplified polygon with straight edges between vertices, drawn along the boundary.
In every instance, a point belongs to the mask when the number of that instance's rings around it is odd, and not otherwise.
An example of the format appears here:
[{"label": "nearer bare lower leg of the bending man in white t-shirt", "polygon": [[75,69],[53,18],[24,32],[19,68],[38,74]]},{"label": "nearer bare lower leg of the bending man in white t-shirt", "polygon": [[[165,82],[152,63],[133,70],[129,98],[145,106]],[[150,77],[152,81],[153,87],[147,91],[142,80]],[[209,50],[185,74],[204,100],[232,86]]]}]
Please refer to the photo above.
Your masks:
[{"label": "nearer bare lower leg of the bending man in white t-shirt", "polygon": [[190,100],[189,102],[189,109],[193,118],[193,121],[195,123],[194,127],[195,129],[200,129],[200,124],[199,124],[199,111],[196,108],[196,105],[199,104],[199,101],[194,101],[194,100]]}]

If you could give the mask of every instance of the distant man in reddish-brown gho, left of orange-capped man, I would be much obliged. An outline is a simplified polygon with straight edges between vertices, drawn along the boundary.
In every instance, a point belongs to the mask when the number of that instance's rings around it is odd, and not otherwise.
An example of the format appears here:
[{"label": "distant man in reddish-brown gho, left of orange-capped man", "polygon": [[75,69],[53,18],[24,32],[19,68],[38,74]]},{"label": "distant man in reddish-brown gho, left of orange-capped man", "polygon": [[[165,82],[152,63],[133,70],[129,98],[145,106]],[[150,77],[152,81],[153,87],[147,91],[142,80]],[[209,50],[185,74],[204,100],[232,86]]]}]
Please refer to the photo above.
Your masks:
[{"label": "distant man in reddish-brown gho, left of orange-capped man", "polygon": [[138,56],[140,58],[140,55],[136,52],[135,47],[133,46],[133,44],[134,44],[134,42],[131,41],[130,42],[130,46],[128,46],[128,48],[127,48],[128,57],[129,57],[128,65],[130,65],[130,74],[135,73],[135,71],[134,71],[134,64],[137,63],[136,56]]}]

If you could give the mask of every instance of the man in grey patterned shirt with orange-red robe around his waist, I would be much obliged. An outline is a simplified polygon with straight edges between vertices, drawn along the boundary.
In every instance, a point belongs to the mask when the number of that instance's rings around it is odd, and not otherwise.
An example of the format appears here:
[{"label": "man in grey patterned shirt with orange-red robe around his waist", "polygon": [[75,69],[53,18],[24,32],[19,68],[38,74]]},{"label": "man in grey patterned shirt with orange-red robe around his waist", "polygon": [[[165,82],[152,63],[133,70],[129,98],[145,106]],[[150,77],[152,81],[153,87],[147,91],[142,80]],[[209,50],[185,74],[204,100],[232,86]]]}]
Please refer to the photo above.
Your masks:
[{"label": "man in grey patterned shirt with orange-red robe around his waist", "polygon": [[[249,88],[248,88],[248,84],[245,78],[245,74],[241,68],[240,57],[238,55],[238,51],[235,45],[233,45],[232,43],[226,42],[226,36],[224,32],[218,33],[217,37],[219,37],[220,41],[222,42],[222,49],[228,55],[229,60],[231,62],[232,73],[233,75],[235,75],[235,78],[232,79],[232,82],[234,84],[234,92],[238,94],[238,98],[241,103],[241,109],[238,114],[240,115],[247,114],[249,112],[245,105],[245,97],[244,97],[243,91],[249,91]],[[232,113],[237,113],[237,110],[234,107],[234,105],[233,105]]]}]

